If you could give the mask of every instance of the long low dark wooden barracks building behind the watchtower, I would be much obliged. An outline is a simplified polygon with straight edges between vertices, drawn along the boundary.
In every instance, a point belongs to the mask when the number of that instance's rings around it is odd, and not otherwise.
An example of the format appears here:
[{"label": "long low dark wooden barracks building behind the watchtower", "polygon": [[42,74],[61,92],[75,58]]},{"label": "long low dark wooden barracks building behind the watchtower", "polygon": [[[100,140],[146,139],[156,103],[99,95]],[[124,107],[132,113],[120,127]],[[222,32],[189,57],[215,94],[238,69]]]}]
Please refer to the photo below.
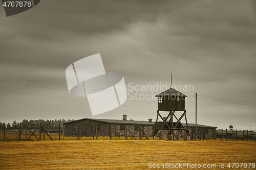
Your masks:
[{"label": "long low dark wooden barracks building behind the watchtower", "polygon": [[[182,123],[183,124],[183,123]],[[97,136],[110,136],[110,125],[112,125],[112,135],[120,136],[124,130],[125,125],[127,129],[134,134],[139,127],[143,130],[147,137],[153,137],[154,122],[152,119],[148,121],[138,121],[138,120],[127,120],[127,115],[123,115],[122,120],[116,119],[93,119],[93,118],[83,118],[75,120],[69,123],[65,123],[65,136],[77,136],[77,126],[80,125],[81,136],[93,136],[93,125],[97,128]],[[185,126],[185,123],[184,123]],[[195,124],[188,124],[188,128],[194,128]],[[197,125],[198,137],[203,138],[203,134],[207,139],[214,139],[216,127]],[[132,136],[128,132],[128,136]],[[94,132],[95,133],[95,132]],[[182,136],[181,134],[179,134]],[[135,136],[139,136],[139,133],[136,133]],[[144,135],[142,134],[142,137]]]}]

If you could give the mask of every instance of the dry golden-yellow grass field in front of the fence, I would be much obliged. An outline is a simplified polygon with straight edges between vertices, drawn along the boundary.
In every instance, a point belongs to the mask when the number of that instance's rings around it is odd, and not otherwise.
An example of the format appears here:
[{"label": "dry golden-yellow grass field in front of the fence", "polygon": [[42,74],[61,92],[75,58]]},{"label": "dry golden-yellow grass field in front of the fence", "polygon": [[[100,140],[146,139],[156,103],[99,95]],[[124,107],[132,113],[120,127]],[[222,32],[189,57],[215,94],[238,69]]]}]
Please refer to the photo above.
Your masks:
[{"label": "dry golden-yellow grass field in front of the fence", "polygon": [[[160,169],[149,168],[148,163],[216,164],[217,168],[206,169],[220,169],[219,163],[225,163],[225,167],[229,162],[255,163],[256,142],[220,140],[15,141],[0,142],[0,154],[1,169]],[[234,169],[253,168],[240,168],[239,166]]]}]

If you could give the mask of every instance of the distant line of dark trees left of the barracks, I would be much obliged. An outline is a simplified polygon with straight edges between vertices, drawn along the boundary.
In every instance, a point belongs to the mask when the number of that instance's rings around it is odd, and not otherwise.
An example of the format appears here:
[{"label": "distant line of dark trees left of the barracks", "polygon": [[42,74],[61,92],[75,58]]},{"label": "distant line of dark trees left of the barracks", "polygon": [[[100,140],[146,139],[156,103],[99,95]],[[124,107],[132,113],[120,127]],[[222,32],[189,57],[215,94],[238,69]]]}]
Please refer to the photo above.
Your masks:
[{"label": "distant line of dark trees left of the barracks", "polygon": [[[22,122],[22,128],[21,129],[26,129],[26,126],[29,129],[37,129],[40,127],[40,124],[43,126],[45,125],[45,129],[59,129],[59,124],[61,125],[60,128],[62,129],[62,124],[74,121],[75,119],[55,119],[55,120],[44,120],[44,119],[38,119],[38,120],[28,120],[28,119],[23,119]],[[4,122],[0,122],[0,129],[4,129]],[[12,124],[8,123],[5,124],[6,130],[18,130],[19,129],[19,122],[16,122],[16,120],[13,120]]]}]

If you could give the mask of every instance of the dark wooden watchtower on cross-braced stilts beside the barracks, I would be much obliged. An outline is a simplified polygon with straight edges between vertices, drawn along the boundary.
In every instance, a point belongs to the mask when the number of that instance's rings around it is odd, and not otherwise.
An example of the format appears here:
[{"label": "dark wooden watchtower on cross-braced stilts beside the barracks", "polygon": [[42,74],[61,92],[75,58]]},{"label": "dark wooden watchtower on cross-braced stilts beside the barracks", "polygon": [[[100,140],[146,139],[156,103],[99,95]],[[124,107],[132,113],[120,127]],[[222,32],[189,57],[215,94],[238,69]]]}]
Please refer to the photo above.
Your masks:
[{"label": "dark wooden watchtower on cross-braced stilts beside the barracks", "polygon": [[[157,109],[157,119],[154,125],[154,139],[158,135],[161,130],[165,130],[163,136],[165,136],[168,132],[170,135],[169,140],[175,140],[174,131],[185,131],[188,135],[188,139],[190,140],[189,136],[189,129],[187,125],[187,118],[186,118],[186,109],[185,109],[185,98],[187,95],[175,90],[174,88],[169,88],[159,94],[156,95],[158,98],[158,109]],[[167,117],[163,117],[161,112],[169,112]],[[175,115],[176,112],[183,112],[180,118],[177,118]],[[159,117],[161,119],[159,119]],[[185,117],[186,121],[186,128],[181,124],[181,119]],[[161,121],[162,120],[162,121]],[[177,122],[176,122],[177,120]],[[163,136],[161,138],[163,138]],[[178,139],[179,137],[176,136]]]}]

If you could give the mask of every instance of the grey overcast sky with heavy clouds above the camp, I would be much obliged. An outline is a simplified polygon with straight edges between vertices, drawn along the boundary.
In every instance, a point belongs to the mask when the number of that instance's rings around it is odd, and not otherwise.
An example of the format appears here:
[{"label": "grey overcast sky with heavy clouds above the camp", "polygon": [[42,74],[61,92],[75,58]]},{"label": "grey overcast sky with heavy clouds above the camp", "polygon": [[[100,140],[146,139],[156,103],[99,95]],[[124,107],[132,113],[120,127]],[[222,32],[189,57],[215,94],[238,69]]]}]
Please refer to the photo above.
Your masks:
[{"label": "grey overcast sky with heavy clouds above the camp", "polygon": [[[0,7],[0,76],[67,84],[73,62],[101,54],[106,72],[135,85],[193,85],[198,124],[256,130],[256,1],[58,1],[6,17]],[[131,84],[130,84],[131,85]],[[165,89],[164,89],[165,90]],[[150,91],[150,90],[147,90]],[[161,92],[158,90],[157,92]],[[195,123],[195,98],[186,100]],[[156,119],[156,100],[128,100],[92,116],[87,98],[68,91],[0,82],[0,121],[15,119]]]}]

